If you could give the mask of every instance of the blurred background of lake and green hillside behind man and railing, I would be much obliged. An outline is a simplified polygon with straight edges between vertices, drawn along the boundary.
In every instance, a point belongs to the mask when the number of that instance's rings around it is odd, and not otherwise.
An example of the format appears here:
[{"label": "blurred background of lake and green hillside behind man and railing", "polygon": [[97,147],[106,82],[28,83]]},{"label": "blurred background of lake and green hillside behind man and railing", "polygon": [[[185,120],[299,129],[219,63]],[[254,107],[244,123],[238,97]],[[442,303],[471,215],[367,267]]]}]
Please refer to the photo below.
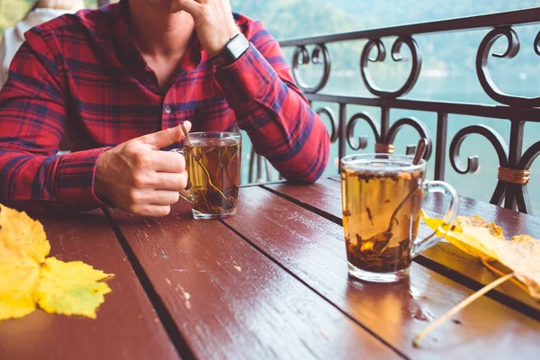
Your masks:
[{"label": "blurred background of lake and green hillside behind man and railing", "polygon": [[[95,7],[96,1],[85,1],[88,7]],[[277,40],[298,38],[321,33],[364,30],[406,23],[420,23],[478,14],[524,9],[540,5],[540,0],[230,0],[235,12],[246,14],[265,23]],[[13,25],[33,4],[31,0],[0,0],[0,31]],[[510,20],[511,22],[511,20]],[[508,94],[522,96],[540,95],[540,61],[533,49],[539,25],[515,27],[521,40],[521,50],[513,59],[490,58],[489,66],[500,89]],[[476,51],[482,38],[489,30],[457,31],[414,36],[422,50],[423,66],[419,81],[408,99],[421,99],[445,102],[495,103],[482,90],[474,62]],[[389,51],[395,38],[383,39]],[[359,72],[359,58],[365,41],[348,41],[330,44],[332,73],[329,84],[320,91],[322,94],[349,94],[371,96],[365,88]],[[494,51],[504,52],[506,40],[498,40]],[[284,49],[290,61],[293,49]],[[403,55],[407,55],[407,49]],[[395,63],[387,59],[383,63],[370,64],[374,80],[383,88],[397,89],[409,76],[410,63]],[[302,69],[307,83],[316,83],[322,67],[315,65]],[[330,106],[331,103],[313,103],[314,108]],[[367,106],[347,107],[347,118],[359,111],[369,112],[378,120],[380,110]],[[391,123],[405,116],[417,117],[424,121],[435,138],[437,115],[428,112],[391,111]],[[328,120],[325,120],[328,122]],[[478,117],[450,115],[448,125],[448,145],[455,132],[468,125],[486,124],[498,130],[509,141],[509,121]],[[356,135],[368,135],[369,145],[364,152],[373,152],[374,136],[367,126],[356,127]],[[247,182],[247,166],[250,156],[250,143],[245,138],[243,151],[244,173],[242,180]],[[396,152],[405,151],[405,146],[417,142],[418,135],[413,130],[402,130],[395,141]],[[524,150],[540,139],[540,123],[527,123]],[[352,150],[349,150],[352,153]],[[462,157],[480,156],[481,168],[472,175],[458,175],[447,159],[446,180],[454,184],[458,192],[483,201],[489,201],[497,183],[497,155],[487,139],[473,135],[464,141]],[[328,174],[337,174],[338,147],[332,147]],[[433,160],[430,161],[431,176]],[[272,174],[277,178],[276,174]],[[536,214],[540,214],[540,160],[532,167],[532,180],[529,195]]]}]

